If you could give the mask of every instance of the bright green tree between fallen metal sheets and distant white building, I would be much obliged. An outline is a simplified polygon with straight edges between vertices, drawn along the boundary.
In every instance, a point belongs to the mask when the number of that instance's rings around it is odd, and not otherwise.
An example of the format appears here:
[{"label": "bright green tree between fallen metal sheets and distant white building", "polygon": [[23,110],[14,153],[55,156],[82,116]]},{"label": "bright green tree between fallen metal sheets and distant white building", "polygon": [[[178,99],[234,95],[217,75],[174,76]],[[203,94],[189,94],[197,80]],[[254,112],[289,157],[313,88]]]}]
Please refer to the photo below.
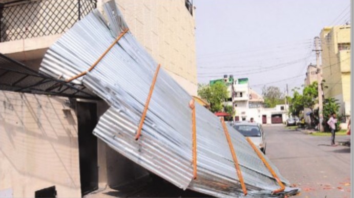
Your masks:
[{"label": "bright green tree between fallen metal sheets and distant white building", "polygon": [[227,87],[222,82],[213,85],[198,84],[198,95],[210,103],[210,111],[213,113],[222,110],[222,103],[227,99]]}]

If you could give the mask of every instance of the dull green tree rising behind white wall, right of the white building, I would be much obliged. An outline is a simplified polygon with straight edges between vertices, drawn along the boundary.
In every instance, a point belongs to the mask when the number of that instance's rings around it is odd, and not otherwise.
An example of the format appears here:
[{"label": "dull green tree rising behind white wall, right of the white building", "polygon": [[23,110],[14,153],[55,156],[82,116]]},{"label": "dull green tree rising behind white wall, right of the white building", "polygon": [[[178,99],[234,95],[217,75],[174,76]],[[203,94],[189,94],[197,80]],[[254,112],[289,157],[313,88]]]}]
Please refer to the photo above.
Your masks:
[{"label": "dull green tree rising behind white wall, right of the white building", "polygon": [[262,96],[264,104],[267,107],[273,108],[277,104],[284,104],[284,95],[277,86],[263,86]]}]

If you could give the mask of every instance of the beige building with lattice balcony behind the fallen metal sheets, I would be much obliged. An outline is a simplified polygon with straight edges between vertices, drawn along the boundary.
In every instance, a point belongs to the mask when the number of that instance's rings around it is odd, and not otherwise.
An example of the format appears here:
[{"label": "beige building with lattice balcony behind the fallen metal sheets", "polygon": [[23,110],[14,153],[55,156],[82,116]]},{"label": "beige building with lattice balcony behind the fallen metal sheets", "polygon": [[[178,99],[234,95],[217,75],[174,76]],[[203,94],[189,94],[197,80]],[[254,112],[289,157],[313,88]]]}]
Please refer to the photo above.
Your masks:
[{"label": "beige building with lattice balcony behind the fallen metal sheets", "polygon": [[[49,86],[48,79],[34,73],[55,40],[93,9],[103,10],[104,2],[0,0],[0,53],[9,57],[0,57],[1,80],[8,81],[0,85],[0,197],[46,192],[80,197],[148,174],[92,135],[108,108],[104,101],[92,93],[76,98],[73,93],[82,90],[54,89],[57,82]],[[141,45],[196,95],[192,3],[116,0],[116,4]],[[21,76],[27,69],[31,75]],[[29,79],[38,81],[33,84]],[[33,89],[36,86],[40,90]]]}]

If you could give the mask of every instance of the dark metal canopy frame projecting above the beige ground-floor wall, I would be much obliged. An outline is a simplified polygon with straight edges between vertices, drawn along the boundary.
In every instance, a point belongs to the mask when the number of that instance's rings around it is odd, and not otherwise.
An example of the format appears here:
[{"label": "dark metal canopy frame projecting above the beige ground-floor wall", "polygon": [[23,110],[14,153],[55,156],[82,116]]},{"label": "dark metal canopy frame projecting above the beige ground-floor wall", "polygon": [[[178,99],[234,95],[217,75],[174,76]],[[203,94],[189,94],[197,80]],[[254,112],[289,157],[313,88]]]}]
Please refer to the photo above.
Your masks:
[{"label": "dark metal canopy frame projecting above the beige ground-floor wall", "polygon": [[67,83],[38,73],[1,53],[0,90],[100,100],[81,84]]}]

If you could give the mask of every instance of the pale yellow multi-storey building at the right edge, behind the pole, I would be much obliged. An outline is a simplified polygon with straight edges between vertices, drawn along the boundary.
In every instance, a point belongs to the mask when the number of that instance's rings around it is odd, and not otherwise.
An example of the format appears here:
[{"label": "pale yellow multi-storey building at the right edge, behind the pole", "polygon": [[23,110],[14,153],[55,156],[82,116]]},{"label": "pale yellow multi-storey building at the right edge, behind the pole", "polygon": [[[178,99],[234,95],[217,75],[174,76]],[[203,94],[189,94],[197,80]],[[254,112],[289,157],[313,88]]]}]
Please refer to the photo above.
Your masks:
[{"label": "pale yellow multi-storey building at the right edge, behind the pole", "polygon": [[[340,114],[350,116],[350,25],[324,27],[320,33],[324,98],[335,98]],[[346,119],[348,120],[348,119]],[[344,121],[344,120],[343,120]]]}]

